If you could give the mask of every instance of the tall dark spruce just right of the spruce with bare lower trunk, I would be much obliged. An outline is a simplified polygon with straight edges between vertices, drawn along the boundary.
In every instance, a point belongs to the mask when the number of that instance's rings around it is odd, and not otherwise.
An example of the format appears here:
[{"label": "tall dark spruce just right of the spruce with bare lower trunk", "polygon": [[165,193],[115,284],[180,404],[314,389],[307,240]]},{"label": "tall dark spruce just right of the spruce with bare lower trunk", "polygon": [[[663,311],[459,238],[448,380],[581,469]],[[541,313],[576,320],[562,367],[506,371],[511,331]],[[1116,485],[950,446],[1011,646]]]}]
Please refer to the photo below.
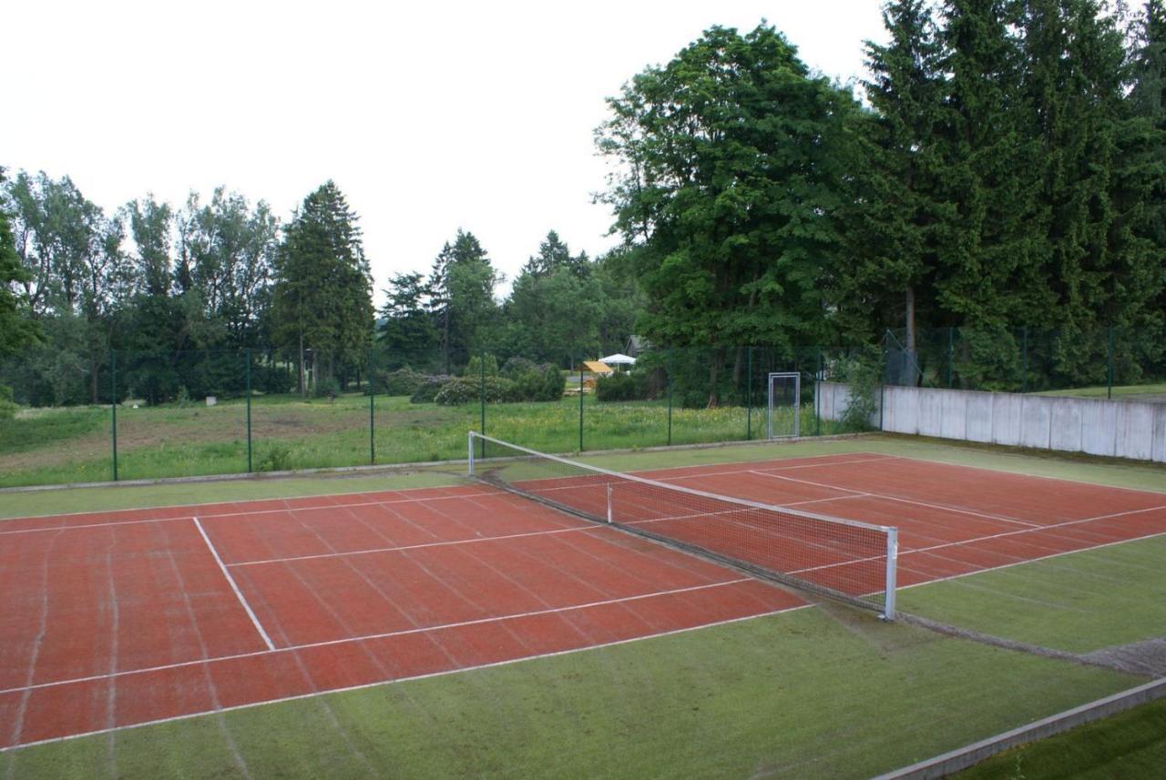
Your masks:
[{"label": "tall dark spruce just right of the spruce with bare lower trunk", "polygon": [[1010,326],[1044,322],[1053,296],[1034,170],[1041,150],[1027,133],[1023,50],[1012,3],[947,0],[942,68],[949,76],[936,137],[936,303],[976,328],[984,353],[1014,348]]}]

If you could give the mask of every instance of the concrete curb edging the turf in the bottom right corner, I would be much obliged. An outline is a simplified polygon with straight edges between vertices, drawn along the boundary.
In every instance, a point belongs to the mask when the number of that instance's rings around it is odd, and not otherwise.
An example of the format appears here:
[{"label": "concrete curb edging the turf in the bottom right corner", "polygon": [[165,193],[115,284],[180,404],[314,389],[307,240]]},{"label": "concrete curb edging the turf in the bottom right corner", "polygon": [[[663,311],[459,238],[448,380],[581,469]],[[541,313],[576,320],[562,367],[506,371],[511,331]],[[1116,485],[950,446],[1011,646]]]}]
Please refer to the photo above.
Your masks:
[{"label": "concrete curb edging the turf in the bottom right corner", "polygon": [[901,770],[880,774],[874,780],[934,780],[967,770],[979,764],[985,758],[1004,752],[1010,747],[1037,742],[1053,735],[1068,731],[1086,723],[1100,721],[1117,712],[1124,712],[1138,704],[1166,697],[1166,678],[1154,680],[1137,688],[1130,688],[1121,693],[1098,699],[1097,701],[1074,707],[1070,710],[1051,715],[1047,718],[1023,725],[995,737],[982,739],[958,750],[953,750],[942,756],[936,756]]}]

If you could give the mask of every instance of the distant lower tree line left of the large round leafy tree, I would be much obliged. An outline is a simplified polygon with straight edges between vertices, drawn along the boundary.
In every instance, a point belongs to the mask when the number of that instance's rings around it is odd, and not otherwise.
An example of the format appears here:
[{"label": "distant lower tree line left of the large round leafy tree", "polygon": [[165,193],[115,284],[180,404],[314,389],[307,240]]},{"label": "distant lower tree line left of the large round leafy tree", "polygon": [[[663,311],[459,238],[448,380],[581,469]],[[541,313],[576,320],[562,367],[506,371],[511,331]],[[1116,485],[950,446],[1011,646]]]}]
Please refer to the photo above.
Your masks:
[{"label": "distant lower tree line left of the large round leafy tree", "polygon": [[458,231],[428,275],[388,281],[377,326],[359,215],[333,182],[287,224],[223,187],[112,214],[68,176],[20,171],[2,194],[3,354],[20,360],[0,378],[24,403],[108,400],[111,350],[147,403],[241,391],[248,349],[272,392],[337,391],[370,362],[455,374],[484,349],[566,366],[620,348],[638,307],[617,257],[574,254],[554,231],[499,302],[503,275]]}]

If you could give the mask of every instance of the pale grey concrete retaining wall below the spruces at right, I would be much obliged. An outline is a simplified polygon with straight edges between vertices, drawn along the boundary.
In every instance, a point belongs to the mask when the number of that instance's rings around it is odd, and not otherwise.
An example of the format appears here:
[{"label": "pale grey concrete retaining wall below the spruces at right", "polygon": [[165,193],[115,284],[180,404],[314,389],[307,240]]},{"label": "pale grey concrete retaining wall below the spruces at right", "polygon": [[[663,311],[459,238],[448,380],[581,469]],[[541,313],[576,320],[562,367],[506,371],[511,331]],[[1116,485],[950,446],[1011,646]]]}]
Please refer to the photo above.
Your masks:
[{"label": "pale grey concrete retaining wall below the spruces at right", "polygon": [[[850,388],[815,385],[823,419],[842,419]],[[886,385],[870,424],[892,433],[1166,462],[1166,404]]]}]

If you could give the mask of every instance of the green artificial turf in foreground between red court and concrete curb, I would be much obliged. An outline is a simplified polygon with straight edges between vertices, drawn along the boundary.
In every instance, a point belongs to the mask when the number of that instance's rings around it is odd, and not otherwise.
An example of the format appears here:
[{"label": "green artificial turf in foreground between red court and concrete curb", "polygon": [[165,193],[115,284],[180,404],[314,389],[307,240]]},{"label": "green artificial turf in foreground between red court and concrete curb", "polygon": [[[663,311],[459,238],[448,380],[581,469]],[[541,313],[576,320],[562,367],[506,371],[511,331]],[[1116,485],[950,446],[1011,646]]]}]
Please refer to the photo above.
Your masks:
[{"label": "green artificial turf in foreground between red court and concrete curb", "polygon": [[0,756],[7,777],[865,778],[1136,683],[803,609]]}]

